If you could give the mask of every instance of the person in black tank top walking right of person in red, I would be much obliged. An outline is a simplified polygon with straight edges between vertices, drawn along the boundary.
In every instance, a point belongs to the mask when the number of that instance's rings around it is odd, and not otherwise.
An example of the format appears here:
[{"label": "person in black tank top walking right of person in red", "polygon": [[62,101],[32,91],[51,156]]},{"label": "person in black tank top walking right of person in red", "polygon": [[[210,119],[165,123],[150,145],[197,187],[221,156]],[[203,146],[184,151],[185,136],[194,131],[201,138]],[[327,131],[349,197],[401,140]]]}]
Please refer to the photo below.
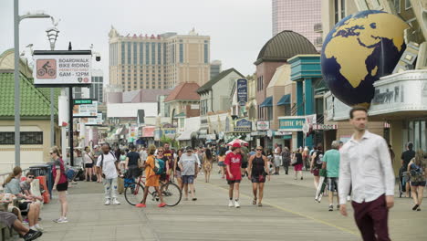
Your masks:
[{"label": "person in black tank top walking right of person in red", "polygon": [[254,193],[252,204],[256,204],[256,198],[258,197],[258,206],[263,206],[264,183],[266,183],[266,177],[268,177],[268,181],[270,181],[268,160],[266,156],[263,155],[263,150],[262,146],[256,147],[256,153],[249,158],[247,167],[247,172],[249,173],[248,178],[252,182],[252,192]]}]

